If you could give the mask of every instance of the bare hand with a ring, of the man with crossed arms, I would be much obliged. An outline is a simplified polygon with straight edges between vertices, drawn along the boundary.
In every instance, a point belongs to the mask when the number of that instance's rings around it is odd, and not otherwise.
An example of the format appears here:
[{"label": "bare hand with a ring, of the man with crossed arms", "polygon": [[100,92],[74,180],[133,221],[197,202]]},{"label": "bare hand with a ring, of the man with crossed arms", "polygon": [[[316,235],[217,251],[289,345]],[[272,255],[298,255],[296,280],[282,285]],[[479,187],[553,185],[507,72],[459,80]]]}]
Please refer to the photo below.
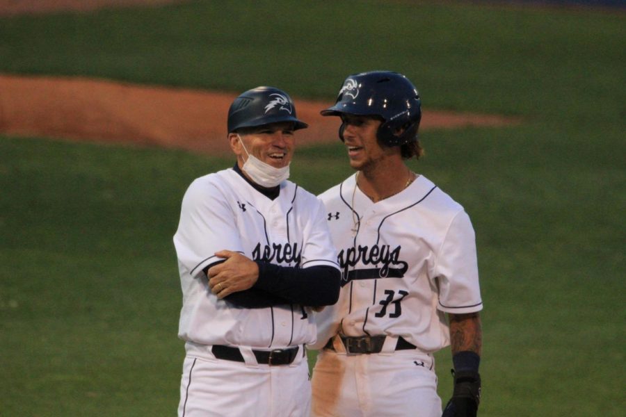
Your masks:
[{"label": "bare hand with a ring, of the man with crossed arms", "polygon": [[218,298],[245,291],[259,279],[259,265],[247,256],[230,250],[220,250],[215,255],[226,259],[207,271],[209,288]]}]

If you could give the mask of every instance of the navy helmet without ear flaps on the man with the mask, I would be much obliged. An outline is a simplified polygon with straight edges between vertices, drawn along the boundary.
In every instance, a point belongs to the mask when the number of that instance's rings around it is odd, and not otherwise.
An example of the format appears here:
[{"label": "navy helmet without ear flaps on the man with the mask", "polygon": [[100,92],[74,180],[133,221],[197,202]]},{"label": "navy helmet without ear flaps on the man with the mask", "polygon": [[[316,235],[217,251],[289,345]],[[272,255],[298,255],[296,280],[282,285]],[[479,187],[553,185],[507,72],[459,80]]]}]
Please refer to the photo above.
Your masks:
[{"label": "navy helmet without ear flaps on the man with the mask", "polygon": [[228,133],[278,122],[294,122],[294,130],[309,126],[297,119],[294,101],[278,88],[252,88],[234,99],[228,109]]}]

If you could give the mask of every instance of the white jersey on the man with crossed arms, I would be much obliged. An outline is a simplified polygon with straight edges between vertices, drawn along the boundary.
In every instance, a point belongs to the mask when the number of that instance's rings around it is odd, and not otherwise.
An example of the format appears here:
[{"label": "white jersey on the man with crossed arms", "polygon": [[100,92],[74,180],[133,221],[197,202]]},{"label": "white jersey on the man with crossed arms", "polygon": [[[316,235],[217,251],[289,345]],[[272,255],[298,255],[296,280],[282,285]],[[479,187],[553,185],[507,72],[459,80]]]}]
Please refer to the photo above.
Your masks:
[{"label": "white jersey on the man with crossed arms", "polygon": [[314,195],[283,181],[272,200],[232,169],[200,177],[184,195],[174,243],[183,292],[180,338],[277,349],[315,342],[310,308],[239,308],[211,293],[202,272],[220,260],[214,256],[220,250],[282,266],[337,268],[326,211]]}]

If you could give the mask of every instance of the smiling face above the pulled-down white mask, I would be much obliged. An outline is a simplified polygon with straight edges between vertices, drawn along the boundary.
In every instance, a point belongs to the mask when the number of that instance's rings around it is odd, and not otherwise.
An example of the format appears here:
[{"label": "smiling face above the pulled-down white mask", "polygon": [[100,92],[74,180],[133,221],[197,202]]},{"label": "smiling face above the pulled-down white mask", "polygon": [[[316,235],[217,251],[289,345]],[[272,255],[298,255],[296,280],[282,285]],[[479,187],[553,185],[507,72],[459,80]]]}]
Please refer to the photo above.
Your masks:
[{"label": "smiling face above the pulled-down white mask", "polygon": [[229,133],[228,138],[240,168],[248,160],[246,150],[250,155],[275,168],[286,167],[294,156],[296,143],[292,122],[264,124],[241,129],[238,133],[239,136],[237,133]]}]

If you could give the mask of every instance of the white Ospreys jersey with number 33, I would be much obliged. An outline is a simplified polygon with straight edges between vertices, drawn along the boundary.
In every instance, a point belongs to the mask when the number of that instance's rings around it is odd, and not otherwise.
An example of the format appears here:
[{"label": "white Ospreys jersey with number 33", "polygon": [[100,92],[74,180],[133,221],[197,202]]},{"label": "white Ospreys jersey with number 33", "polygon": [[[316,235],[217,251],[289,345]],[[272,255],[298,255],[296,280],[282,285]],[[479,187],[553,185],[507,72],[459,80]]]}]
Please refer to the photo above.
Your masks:
[{"label": "white Ospreys jersey with number 33", "polygon": [[342,268],[339,302],[318,314],[314,348],[348,336],[402,336],[422,352],[449,345],[444,312],[482,309],[474,229],[423,176],[374,203],[355,175],[320,195]]}]

